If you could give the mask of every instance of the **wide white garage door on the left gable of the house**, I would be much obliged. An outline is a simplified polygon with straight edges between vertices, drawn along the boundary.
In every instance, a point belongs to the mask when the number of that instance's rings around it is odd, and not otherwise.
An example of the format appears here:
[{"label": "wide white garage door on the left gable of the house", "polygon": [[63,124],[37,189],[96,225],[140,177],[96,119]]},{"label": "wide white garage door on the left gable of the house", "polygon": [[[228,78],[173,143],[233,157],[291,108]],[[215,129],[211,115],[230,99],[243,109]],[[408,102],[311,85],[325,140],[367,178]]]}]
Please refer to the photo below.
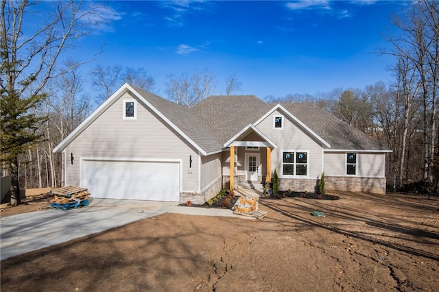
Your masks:
[{"label": "wide white garage door on the left gable of the house", "polygon": [[178,202],[178,162],[83,160],[82,186],[91,197]]}]

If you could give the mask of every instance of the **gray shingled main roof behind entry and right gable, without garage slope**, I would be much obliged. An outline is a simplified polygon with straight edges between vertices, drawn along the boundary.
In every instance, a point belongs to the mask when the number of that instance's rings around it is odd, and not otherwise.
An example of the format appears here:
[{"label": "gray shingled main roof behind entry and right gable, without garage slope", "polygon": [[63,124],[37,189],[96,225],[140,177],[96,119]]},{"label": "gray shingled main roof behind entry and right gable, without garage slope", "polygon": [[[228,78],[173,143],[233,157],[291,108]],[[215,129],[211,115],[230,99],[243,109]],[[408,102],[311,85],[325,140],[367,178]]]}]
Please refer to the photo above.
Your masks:
[{"label": "gray shingled main roof behind entry and right gable, without garage slope", "polygon": [[[254,95],[215,95],[189,109],[200,123],[225,143],[250,123],[255,123],[276,104],[265,104]],[[331,149],[385,151],[379,141],[313,104],[281,106],[331,145]]]}]

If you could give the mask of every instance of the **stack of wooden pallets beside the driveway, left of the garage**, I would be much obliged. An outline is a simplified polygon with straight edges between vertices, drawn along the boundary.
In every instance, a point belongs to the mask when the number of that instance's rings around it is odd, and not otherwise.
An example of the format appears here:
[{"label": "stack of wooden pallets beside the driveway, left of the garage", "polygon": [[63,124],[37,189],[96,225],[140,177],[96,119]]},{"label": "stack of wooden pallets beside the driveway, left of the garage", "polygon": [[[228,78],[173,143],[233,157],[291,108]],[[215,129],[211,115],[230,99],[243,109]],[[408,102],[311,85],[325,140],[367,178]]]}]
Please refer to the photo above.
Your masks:
[{"label": "stack of wooden pallets beside the driveway, left of the garage", "polygon": [[77,186],[64,186],[50,191],[54,194],[54,199],[50,200],[51,209],[67,210],[78,208],[79,206],[88,206],[88,198],[90,193],[86,188]]}]

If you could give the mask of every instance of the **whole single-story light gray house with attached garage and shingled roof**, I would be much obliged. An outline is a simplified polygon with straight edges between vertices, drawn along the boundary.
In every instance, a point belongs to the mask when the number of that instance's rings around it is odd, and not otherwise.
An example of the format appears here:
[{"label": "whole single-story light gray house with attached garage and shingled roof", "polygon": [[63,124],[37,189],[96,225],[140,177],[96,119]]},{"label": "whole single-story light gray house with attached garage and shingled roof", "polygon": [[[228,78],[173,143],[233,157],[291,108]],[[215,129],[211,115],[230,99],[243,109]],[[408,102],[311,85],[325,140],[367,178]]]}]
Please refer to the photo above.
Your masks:
[{"label": "whole single-story light gray house with attached garage and shingled roof", "polygon": [[66,185],[92,197],[203,203],[223,186],[270,182],[385,193],[378,141],[311,104],[212,96],[193,108],[124,84],[67,136]]}]

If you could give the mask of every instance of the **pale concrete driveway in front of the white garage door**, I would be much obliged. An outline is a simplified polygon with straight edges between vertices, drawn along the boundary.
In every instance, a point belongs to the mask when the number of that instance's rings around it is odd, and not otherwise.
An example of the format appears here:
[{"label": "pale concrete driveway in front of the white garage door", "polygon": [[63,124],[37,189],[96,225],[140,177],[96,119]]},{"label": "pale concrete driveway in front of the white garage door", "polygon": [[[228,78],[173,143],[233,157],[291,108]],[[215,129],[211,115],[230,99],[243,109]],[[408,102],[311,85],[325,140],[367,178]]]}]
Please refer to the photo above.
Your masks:
[{"label": "pale concrete driveway in front of the white garage door", "polygon": [[1,217],[0,260],[160,215],[177,204],[91,199],[90,205],[84,208]]}]

